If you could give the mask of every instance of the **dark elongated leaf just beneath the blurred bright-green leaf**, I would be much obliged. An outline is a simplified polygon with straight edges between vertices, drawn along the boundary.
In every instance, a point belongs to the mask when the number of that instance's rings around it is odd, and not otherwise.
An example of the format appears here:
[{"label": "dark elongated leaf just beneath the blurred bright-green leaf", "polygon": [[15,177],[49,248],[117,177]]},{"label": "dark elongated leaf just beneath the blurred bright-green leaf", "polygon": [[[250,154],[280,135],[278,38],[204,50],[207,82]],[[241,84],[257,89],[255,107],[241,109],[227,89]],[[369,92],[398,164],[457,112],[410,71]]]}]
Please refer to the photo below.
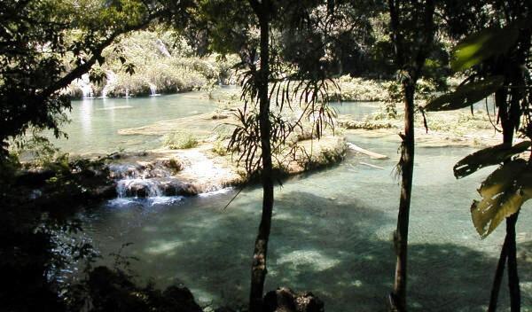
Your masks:
[{"label": "dark elongated leaf just beneath the blurred bright-green leaf", "polygon": [[424,109],[427,112],[452,111],[473,105],[497,91],[504,82],[503,76],[492,76],[481,81],[458,86],[452,93],[435,98]]}]

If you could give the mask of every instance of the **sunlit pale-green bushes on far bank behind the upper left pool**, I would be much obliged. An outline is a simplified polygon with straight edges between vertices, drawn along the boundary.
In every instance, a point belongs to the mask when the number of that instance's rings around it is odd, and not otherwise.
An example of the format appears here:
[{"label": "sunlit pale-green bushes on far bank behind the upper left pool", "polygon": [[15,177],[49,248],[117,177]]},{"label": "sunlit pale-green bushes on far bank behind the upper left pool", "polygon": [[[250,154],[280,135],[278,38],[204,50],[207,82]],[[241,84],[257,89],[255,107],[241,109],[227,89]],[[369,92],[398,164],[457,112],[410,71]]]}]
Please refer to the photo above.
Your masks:
[{"label": "sunlit pale-green bushes on far bank behind the upper left pool", "polygon": [[[234,83],[230,69],[235,56],[208,55],[199,58],[182,36],[168,30],[137,31],[124,36],[103,52],[106,63],[95,67],[104,79],[93,85],[95,96],[130,97],[157,93],[208,90],[213,84]],[[127,59],[133,73],[123,68]],[[70,94],[82,97],[79,84],[69,86]]]}]

